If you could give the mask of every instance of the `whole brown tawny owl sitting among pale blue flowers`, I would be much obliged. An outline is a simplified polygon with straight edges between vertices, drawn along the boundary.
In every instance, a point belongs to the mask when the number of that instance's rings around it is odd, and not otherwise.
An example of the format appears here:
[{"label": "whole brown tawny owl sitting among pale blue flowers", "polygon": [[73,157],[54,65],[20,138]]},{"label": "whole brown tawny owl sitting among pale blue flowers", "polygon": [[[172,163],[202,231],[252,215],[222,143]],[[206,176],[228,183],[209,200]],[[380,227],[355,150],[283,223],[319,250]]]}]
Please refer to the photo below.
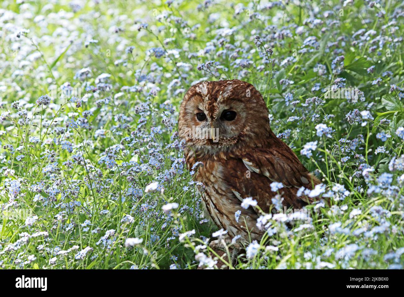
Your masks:
[{"label": "whole brown tawny owl sitting among pale blue flowers", "polygon": [[[258,211],[242,208],[244,198],[252,197],[269,213],[277,194],[270,184],[276,181],[283,184],[283,205],[301,209],[312,200],[298,197],[298,189],[320,183],[272,132],[263,97],[248,82],[204,81],[189,88],[181,103],[179,137],[186,141],[188,169],[203,163],[194,179],[204,184],[206,212],[244,243],[259,240],[264,232],[256,225]],[[241,211],[238,221],[236,211]]]}]

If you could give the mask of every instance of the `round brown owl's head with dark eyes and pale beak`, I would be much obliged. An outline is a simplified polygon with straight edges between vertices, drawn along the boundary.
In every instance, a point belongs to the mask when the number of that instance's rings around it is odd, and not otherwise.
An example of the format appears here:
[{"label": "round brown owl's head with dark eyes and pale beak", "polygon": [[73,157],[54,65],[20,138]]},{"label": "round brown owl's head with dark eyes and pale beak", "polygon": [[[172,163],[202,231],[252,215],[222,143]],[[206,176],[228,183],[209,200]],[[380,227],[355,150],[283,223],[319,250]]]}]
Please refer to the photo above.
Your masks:
[{"label": "round brown owl's head with dark eyes and pale beak", "polygon": [[200,82],[189,88],[181,103],[179,137],[196,152],[259,146],[269,131],[267,106],[248,82]]}]

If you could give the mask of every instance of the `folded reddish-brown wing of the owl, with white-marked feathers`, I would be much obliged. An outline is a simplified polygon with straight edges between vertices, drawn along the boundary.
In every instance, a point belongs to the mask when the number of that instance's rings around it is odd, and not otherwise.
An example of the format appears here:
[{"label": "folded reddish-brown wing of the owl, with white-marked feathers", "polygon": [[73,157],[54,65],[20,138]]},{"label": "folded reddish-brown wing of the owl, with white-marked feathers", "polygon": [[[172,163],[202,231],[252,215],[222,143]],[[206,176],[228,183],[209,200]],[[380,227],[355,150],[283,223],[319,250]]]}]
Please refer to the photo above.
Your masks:
[{"label": "folded reddish-brown wing of the owl, with white-marked feathers", "polygon": [[[236,158],[228,158],[223,166],[226,168],[223,172],[225,182],[234,196],[240,201],[252,197],[265,213],[271,210],[272,198],[278,192],[287,208],[302,209],[317,200],[304,194],[297,196],[302,186],[311,190],[320,181],[309,173],[286,144],[242,152]],[[273,192],[270,187],[273,181],[282,183],[284,187]]]}]

